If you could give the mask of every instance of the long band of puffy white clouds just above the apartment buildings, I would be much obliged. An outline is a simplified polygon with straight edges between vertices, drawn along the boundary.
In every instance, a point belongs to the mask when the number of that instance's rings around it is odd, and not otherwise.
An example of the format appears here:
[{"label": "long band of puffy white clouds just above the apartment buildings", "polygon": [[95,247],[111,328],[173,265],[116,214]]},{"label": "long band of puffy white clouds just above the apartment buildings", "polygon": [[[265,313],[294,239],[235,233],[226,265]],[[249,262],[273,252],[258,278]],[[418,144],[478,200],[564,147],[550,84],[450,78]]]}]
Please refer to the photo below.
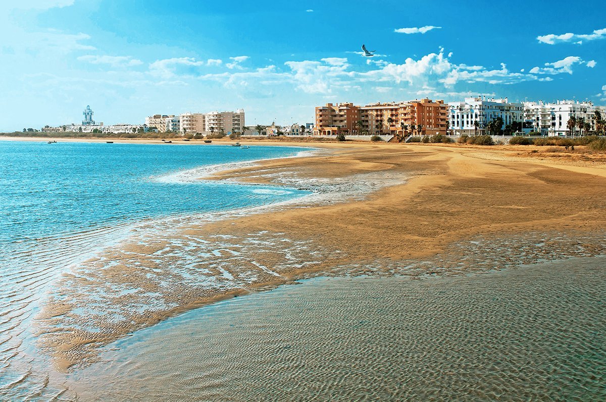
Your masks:
[{"label": "long band of puffy white clouds just above the apartment buildings", "polygon": [[[450,53],[448,53],[450,54]],[[402,63],[390,62],[385,59],[366,59],[365,64],[351,65],[347,58],[331,57],[318,60],[287,61],[285,68],[275,65],[251,70],[243,67],[241,62],[248,56],[230,58],[230,63],[217,64],[224,66],[220,73],[204,73],[203,66],[209,62],[196,61],[193,58],[176,58],[156,61],[150,65],[150,72],[163,79],[179,77],[197,78],[215,81],[227,88],[267,88],[275,85],[285,85],[284,88],[310,94],[330,96],[334,93],[373,88],[376,91],[408,90],[409,93],[422,94],[419,88],[442,87],[441,93],[454,93],[451,88],[465,83],[473,84],[517,84],[525,81],[553,81],[555,74],[571,73],[574,65],[587,64],[578,56],[553,63],[545,63],[544,67],[534,67],[529,72],[522,68],[510,71],[507,65],[501,63],[500,68],[487,68],[482,65],[454,64],[445,56],[444,49],[430,53],[418,59],[407,58]],[[432,89],[433,90],[433,89]],[[435,92],[438,92],[434,90]]]}]

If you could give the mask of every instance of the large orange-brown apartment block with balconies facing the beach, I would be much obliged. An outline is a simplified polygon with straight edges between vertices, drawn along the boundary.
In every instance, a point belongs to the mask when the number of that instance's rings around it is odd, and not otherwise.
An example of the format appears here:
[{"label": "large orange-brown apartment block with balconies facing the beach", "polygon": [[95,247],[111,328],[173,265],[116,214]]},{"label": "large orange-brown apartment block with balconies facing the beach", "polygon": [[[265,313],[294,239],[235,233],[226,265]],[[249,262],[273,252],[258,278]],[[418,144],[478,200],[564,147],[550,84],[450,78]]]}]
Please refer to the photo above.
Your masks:
[{"label": "large orange-brown apartment block with balconies facing the beach", "polygon": [[[314,134],[358,135],[446,134],[448,105],[444,101],[421,99],[409,102],[368,104],[326,104],[316,107]],[[421,130],[418,126],[421,125]]]}]

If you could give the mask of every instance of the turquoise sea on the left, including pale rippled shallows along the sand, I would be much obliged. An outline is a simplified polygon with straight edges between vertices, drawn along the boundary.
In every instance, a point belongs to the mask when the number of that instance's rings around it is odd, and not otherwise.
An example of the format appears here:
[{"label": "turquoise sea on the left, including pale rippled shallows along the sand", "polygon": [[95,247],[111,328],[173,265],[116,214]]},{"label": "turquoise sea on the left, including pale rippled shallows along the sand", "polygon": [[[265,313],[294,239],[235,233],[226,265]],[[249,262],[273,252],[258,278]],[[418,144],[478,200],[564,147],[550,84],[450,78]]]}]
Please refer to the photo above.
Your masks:
[{"label": "turquoise sea on the left, including pale rippled shallows along the sand", "polygon": [[32,319],[70,266],[111,246],[138,222],[307,194],[178,173],[304,150],[0,141],[0,400],[19,400],[44,384],[32,374],[38,355]]}]

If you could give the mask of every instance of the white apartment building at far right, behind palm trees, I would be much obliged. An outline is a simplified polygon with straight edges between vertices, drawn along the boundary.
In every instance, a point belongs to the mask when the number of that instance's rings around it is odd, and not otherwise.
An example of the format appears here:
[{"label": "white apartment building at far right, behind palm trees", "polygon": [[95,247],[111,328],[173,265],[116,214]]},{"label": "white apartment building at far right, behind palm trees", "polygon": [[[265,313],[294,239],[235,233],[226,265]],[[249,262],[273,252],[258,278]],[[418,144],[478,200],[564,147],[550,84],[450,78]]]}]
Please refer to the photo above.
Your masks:
[{"label": "white apartment building at far right, behind palm trees", "polygon": [[[591,102],[579,101],[556,101],[545,104],[539,102],[524,102],[524,120],[531,122],[534,131],[548,136],[565,136],[573,133],[568,130],[568,119],[574,116],[576,119],[584,119],[590,125],[589,131],[596,130],[596,122],[593,119],[594,112],[600,110],[602,118],[606,108],[594,106]],[[575,128],[574,133],[580,133]]]}]

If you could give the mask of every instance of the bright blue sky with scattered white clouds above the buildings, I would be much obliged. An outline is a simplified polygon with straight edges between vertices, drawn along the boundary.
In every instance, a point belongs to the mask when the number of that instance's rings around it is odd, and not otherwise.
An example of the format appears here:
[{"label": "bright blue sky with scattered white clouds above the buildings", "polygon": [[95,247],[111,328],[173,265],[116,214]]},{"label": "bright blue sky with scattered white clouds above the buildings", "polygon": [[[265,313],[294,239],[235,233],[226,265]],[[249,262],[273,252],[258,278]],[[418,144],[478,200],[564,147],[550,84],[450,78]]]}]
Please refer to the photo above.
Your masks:
[{"label": "bright blue sky with scattered white clouds above the buildings", "polygon": [[7,3],[1,131],[79,122],[86,105],[105,124],[244,108],[255,125],[469,93],[606,104],[604,1]]}]

